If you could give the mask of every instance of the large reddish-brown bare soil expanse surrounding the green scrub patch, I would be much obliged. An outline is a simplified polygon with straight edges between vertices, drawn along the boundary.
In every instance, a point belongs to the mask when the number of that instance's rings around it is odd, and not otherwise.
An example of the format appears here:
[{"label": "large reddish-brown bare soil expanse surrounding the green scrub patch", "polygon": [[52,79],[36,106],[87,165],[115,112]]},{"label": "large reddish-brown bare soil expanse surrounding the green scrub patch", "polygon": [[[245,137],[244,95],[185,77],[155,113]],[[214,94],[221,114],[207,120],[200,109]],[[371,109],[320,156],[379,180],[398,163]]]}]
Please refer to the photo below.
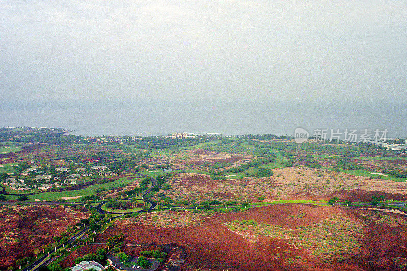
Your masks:
[{"label": "large reddish-brown bare soil expanse surrounding the green scrub patch", "polygon": [[[303,218],[288,218],[302,212],[306,212]],[[158,228],[122,220],[107,229],[99,238],[105,240],[108,236],[124,232],[124,243],[177,243],[186,246],[187,259],[182,270],[189,270],[191,267],[213,270],[369,270],[370,265],[375,266],[375,269],[391,270],[388,263],[392,257],[406,256],[403,249],[407,244],[406,226],[389,227],[372,223],[363,228],[366,236],[362,240],[364,245],[358,255],[345,259],[342,263],[336,260],[333,263],[325,263],[321,258],[312,258],[308,251],[296,249],[285,240],[262,237],[258,242],[252,243],[223,225],[232,220],[254,219],[293,229],[319,222],[334,213],[342,213],[362,221],[363,212],[370,211],[281,204],[250,209],[248,212],[219,214],[214,218],[208,217],[201,225],[187,228]],[[291,253],[287,254],[284,250]],[[270,257],[276,253],[279,253],[281,258]],[[370,253],[374,255],[374,259],[369,257]],[[288,259],[297,255],[307,261],[289,264]]]}]

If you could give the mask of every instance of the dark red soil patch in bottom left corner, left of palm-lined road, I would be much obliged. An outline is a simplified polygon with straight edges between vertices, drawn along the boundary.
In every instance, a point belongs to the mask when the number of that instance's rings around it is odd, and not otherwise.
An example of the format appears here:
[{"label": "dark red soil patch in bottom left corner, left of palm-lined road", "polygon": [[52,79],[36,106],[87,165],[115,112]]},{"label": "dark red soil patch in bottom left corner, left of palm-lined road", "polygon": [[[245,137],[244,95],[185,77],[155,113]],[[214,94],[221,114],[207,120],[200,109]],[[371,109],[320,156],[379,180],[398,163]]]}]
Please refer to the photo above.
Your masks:
[{"label": "dark red soil patch in bottom left corner, left of palm-lined road", "polygon": [[35,257],[33,251],[53,241],[88,214],[68,207],[13,206],[0,211],[0,269],[14,266],[18,258]]}]

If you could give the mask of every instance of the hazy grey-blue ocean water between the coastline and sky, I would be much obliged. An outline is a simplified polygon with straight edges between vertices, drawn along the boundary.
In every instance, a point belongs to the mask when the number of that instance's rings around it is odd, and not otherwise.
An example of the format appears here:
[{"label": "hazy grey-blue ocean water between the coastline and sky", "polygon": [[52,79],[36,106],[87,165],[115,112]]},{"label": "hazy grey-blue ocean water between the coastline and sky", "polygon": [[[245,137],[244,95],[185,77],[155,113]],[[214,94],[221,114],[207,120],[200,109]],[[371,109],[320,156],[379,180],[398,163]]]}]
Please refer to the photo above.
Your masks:
[{"label": "hazy grey-blue ocean water between the coastline and sky", "polygon": [[82,136],[172,132],[292,135],[295,128],[387,129],[407,137],[407,102],[37,102],[0,106],[0,126],[61,127]]}]

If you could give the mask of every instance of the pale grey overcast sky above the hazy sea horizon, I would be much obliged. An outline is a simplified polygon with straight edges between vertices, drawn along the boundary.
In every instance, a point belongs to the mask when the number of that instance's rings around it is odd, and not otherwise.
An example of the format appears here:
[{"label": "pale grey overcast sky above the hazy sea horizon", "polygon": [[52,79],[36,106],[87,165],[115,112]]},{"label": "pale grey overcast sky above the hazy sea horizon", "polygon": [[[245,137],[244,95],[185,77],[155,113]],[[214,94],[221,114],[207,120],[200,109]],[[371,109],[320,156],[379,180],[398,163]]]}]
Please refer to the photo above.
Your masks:
[{"label": "pale grey overcast sky above the hazy sea horizon", "polygon": [[406,93],[406,1],[0,0],[3,101]]}]

